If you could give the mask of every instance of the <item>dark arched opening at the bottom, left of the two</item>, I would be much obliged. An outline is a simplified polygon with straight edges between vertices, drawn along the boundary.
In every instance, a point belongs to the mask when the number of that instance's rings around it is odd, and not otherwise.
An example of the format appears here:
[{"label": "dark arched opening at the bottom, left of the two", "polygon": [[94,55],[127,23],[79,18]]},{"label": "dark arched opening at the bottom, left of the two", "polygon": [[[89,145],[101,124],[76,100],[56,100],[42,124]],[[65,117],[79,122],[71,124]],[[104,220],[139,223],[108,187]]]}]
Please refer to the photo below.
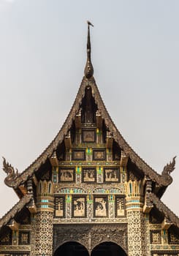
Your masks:
[{"label": "dark arched opening at the bottom, left of the two", "polygon": [[89,254],[85,246],[70,241],[59,246],[53,256],[89,256]]}]

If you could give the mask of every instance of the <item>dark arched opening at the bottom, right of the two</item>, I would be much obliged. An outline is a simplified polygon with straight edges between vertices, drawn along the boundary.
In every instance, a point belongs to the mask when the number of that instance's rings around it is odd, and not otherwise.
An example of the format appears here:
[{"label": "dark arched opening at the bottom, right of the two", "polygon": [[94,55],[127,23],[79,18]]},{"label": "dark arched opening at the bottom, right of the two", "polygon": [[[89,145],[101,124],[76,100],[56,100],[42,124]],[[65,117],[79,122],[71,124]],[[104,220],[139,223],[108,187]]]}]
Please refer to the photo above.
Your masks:
[{"label": "dark arched opening at the bottom, right of the two", "polygon": [[94,247],[91,256],[127,256],[126,252],[113,242],[104,242]]}]

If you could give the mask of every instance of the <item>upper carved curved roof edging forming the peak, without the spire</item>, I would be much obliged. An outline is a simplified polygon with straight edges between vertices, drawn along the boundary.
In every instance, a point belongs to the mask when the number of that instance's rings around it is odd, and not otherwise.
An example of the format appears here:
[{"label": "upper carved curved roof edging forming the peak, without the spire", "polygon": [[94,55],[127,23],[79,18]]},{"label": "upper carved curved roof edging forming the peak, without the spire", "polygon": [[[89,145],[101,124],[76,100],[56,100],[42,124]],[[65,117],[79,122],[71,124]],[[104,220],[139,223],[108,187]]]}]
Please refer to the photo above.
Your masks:
[{"label": "upper carved curved roof edging forming the peak, without the spire", "polygon": [[77,92],[75,102],[72,105],[72,109],[70,110],[66,121],[61,127],[61,130],[56,135],[56,138],[53,139],[53,141],[50,143],[49,146],[47,146],[45,151],[43,151],[42,154],[34,162],[32,162],[32,164],[27,167],[26,170],[23,171],[23,173],[20,173],[17,176],[15,175],[14,171],[12,175],[11,170],[7,178],[5,178],[5,183],[7,184],[7,186],[17,188],[18,186],[20,186],[20,184],[23,184],[28,179],[28,177],[32,176],[35,172],[37,172],[39,167],[44,164],[49,157],[52,156],[54,151],[56,151],[58,145],[64,140],[64,136],[67,135],[67,132],[72,127],[72,121],[75,120],[75,116],[80,109],[82,99],[85,96],[86,86],[91,86],[94,100],[96,102],[97,108],[99,109],[99,112],[104,118],[104,123],[107,129],[109,129],[109,131],[112,133],[114,140],[116,141],[116,143],[118,143],[121,150],[123,150],[126,155],[129,155],[131,161],[145,174],[145,176],[151,178],[151,180],[155,181],[157,184],[159,184],[159,186],[167,187],[172,182],[170,172],[175,168],[175,159],[173,159],[173,162],[170,163],[170,165],[166,165],[166,167],[164,167],[164,171],[160,175],[159,173],[156,173],[156,171],[153,170],[142,158],[140,158],[137,153],[129,146],[126,140],[124,140],[117,127],[115,127],[112,118],[110,118],[110,115],[105,108],[104,102],[102,101],[102,97],[99,94],[99,90],[93,77],[89,79],[85,77],[83,78],[80,89]]}]

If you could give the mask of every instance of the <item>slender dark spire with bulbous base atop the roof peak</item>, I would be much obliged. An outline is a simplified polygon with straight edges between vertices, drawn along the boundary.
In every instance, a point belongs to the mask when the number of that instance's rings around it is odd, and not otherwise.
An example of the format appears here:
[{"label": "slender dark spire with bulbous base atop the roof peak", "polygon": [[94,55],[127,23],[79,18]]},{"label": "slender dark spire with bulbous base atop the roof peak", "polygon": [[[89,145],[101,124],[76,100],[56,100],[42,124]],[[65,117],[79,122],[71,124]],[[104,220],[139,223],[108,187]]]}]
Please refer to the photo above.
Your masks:
[{"label": "slender dark spire with bulbous base atop the roof peak", "polygon": [[91,64],[91,42],[90,42],[90,26],[94,26],[90,21],[88,23],[88,39],[87,39],[87,61],[85,64],[85,78],[91,78],[94,75],[94,67]]}]

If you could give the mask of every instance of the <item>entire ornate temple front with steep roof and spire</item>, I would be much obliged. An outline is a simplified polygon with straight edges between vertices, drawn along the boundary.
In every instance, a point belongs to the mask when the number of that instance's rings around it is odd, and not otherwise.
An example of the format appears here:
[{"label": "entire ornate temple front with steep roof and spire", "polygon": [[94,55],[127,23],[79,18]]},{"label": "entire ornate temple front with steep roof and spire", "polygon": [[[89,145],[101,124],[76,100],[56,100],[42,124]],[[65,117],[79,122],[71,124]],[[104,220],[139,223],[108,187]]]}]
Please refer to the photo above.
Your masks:
[{"label": "entire ornate temple front with steep roof and spire", "polygon": [[179,219],[161,201],[175,157],[156,173],[126,143],[94,80],[88,22],[85,75],[56,138],[22,173],[0,219],[2,256],[179,256]]}]

